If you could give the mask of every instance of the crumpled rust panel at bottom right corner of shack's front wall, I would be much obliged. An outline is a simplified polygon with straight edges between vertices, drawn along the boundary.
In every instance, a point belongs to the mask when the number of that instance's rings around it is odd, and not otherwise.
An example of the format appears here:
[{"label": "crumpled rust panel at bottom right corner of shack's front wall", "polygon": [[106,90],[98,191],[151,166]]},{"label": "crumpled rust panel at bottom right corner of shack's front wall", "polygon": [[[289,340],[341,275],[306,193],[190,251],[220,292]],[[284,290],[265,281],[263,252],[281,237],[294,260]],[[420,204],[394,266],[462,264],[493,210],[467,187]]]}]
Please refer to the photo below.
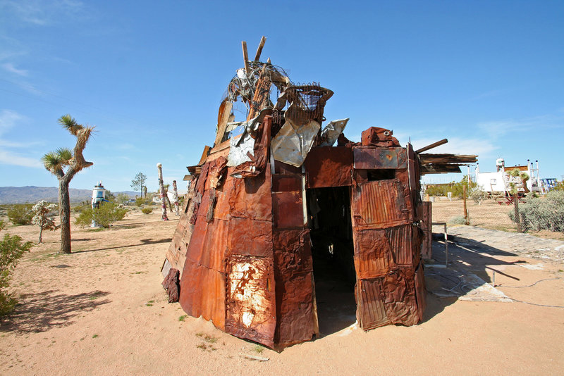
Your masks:
[{"label": "crumpled rust panel at bottom right corner of shack's front wall", "polygon": [[393,324],[415,325],[419,321],[412,268],[391,271],[382,280],[384,307]]}]

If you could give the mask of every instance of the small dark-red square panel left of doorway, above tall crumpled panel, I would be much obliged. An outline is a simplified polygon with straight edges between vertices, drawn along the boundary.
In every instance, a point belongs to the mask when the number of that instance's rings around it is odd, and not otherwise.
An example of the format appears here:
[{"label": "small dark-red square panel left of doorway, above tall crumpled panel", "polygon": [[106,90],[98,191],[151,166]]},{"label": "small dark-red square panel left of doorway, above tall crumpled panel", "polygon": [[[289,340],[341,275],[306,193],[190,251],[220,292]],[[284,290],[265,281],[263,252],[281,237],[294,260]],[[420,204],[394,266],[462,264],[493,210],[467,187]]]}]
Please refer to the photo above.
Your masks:
[{"label": "small dark-red square panel left of doorway, above tall crumpled panel", "polygon": [[304,209],[301,192],[276,192],[272,194],[274,228],[303,227]]}]

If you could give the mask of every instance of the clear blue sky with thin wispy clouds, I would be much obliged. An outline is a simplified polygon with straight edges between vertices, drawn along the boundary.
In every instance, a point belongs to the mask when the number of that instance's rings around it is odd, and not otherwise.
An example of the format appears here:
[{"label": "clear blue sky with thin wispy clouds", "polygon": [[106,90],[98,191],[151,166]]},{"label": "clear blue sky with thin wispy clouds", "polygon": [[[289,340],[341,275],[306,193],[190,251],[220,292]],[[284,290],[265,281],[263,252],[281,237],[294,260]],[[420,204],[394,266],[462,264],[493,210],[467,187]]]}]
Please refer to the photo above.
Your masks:
[{"label": "clear blue sky with thin wispy clouds", "polygon": [[[214,142],[226,86],[265,35],[263,60],[293,82],[335,94],[327,120],[350,118],[359,140],[387,127],[415,148],[476,153],[482,171],[539,160],[564,175],[562,1],[18,1],[0,0],[0,186],[56,186],[39,158],[73,137],[65,113],[96,126],[103,180],[157,189]],[[433,175],[437,182],[460,177]]]}]

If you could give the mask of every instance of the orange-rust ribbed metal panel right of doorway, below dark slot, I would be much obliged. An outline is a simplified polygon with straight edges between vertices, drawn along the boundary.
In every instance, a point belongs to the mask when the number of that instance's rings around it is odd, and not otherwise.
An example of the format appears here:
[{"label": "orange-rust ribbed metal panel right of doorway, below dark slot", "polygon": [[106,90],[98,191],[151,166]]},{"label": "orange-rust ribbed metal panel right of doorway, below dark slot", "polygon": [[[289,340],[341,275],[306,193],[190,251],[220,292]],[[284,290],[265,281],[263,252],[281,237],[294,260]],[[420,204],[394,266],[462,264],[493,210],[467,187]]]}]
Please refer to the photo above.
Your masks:
[{"label": "orange-rust ribbed metal panel right of doorway, below dark slot", "polygon": [[409,211],[398,179],[360,184],[353,189],[352,201],[357,227],[383,228],[409,223]]}]

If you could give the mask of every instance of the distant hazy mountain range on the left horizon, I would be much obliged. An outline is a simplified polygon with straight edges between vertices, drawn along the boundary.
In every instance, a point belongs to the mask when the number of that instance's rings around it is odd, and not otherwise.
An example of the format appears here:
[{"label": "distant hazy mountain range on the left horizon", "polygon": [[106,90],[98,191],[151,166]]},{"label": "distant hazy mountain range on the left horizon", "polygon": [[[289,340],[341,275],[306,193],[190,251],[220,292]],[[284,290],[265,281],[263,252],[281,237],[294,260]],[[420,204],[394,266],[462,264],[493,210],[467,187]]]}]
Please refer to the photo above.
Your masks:
[{"label": "distant hazy mountain range on the left horizon", "polygon": [[[90,201],[92,189],[69,189],[71,202]],[[135,197],[139,192],[111,192],[113,194],[125,193]],[[59,189],[56,187],[0,187],[0,204],[2,203],[35,203],[37,201],[59,201]]]}]

